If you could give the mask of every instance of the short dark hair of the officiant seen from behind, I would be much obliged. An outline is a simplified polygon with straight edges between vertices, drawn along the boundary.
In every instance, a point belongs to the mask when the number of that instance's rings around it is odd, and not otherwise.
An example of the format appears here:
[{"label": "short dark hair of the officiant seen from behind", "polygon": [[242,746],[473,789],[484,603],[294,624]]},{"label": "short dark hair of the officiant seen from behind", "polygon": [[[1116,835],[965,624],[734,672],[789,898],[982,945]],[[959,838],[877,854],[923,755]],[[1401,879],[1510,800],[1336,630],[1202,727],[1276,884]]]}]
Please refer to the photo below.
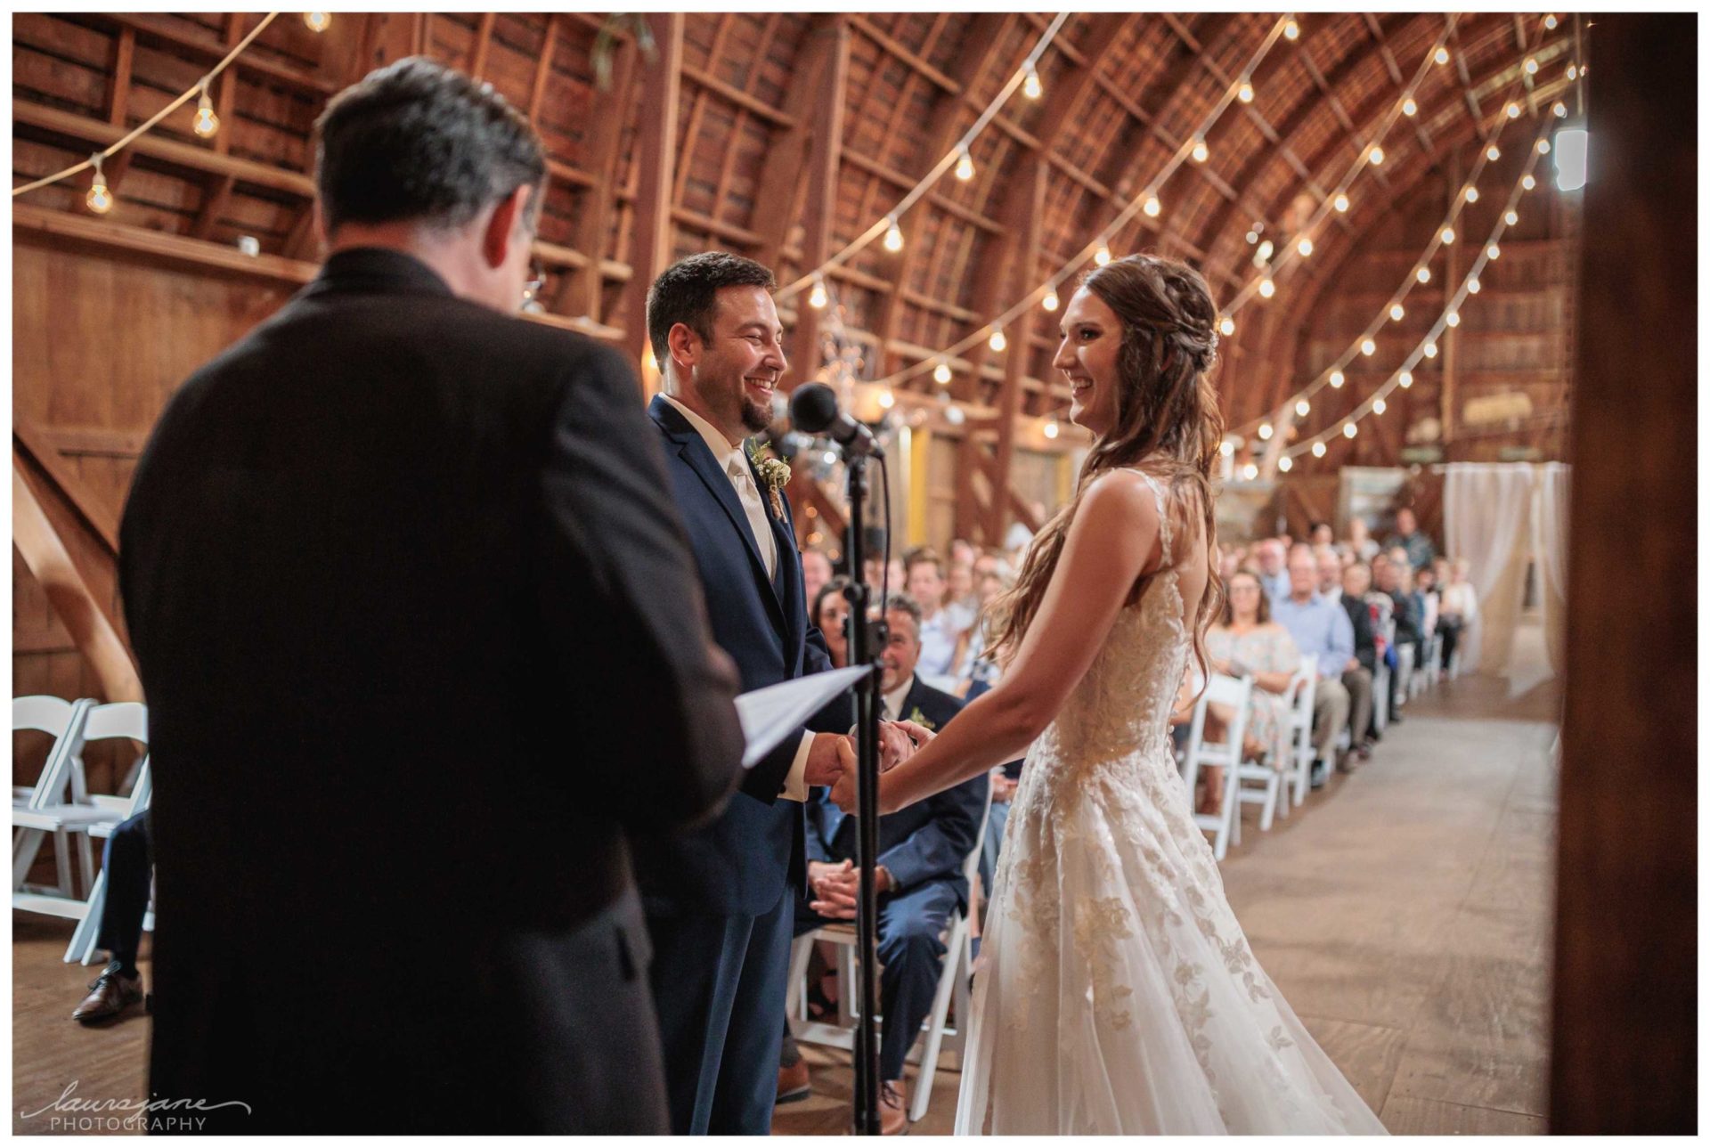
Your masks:
[{"label": "short dark hair of the officiant seen from behind", "polygon": [[422,56],[369,72],[315,121],[315,183],[328,231],[405,219],[460,228],[544,180],[545,151],[528,120],[491,84]]}]

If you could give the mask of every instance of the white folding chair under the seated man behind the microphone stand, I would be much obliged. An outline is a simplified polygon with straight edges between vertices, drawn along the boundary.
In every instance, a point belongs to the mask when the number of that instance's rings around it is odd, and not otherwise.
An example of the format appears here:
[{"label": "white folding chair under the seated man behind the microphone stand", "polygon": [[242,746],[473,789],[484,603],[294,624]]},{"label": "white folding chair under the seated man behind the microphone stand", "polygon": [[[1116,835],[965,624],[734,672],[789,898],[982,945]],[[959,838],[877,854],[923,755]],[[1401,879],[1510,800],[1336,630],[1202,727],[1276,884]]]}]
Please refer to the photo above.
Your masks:
[{"label": "white folding chair under the seated man behind the microphone stand", "polygon": [[[980,828],[973,837],[973,849],[963,861],[963,881],[973,888],[980,873],[980,850],[985,847],[985,823],[992,816],[992,789],[985,790],[985,809],[980,813]],[[807,1018],[807,958],[812,955],[814,941],[828,941],[838,950],[838,1021],[817,1021]],[[855,1047],[855,1023],[860,1011],[855,1001],[855,948],[858,936],[853,924],[829,924],[804,932],[795,938],[790,948],[790,984],[785,996],[785,1015],[790,1018],[790,1032],[797,1040],[828,1045],[833,1049]],[[973,973],[973,936],[968,926],[968,914],[958,910],[951,914],[949,931],[944,939],[944,967],[939,972],[939,985],[932,994],[932,1011],[920,1025],[925,1033],[925,1045],[917,1039],[908,1050],[908,1062],[920,1066],[915,1078],[915,1097],[908,1102],[908,1119],[918,1121],[932,1104],[932,1074],[940,1068],[940,1057],[949,1057],[942,1068],[961,1069],[963,1050],[968,1044],[968,1027],[973,1016],[973,996],[968,992],[968,977]],[[947,1023],[951,999],[956,1001],[956,1025]],[[884,1023],[879,1016],[877,1023]]]}]

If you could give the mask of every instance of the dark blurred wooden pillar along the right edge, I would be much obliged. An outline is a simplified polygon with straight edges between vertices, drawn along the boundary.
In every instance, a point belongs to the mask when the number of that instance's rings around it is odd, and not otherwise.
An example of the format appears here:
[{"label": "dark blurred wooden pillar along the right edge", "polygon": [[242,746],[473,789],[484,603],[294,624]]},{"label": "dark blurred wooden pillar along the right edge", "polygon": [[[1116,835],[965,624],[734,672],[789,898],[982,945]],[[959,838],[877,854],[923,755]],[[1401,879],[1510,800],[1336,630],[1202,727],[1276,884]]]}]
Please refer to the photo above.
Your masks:
[{"label": "dark blurred wooden pillar along the right edge", "polygon": [[1549,1124],[1695,1133],[1698,26],[1592,19]]}]

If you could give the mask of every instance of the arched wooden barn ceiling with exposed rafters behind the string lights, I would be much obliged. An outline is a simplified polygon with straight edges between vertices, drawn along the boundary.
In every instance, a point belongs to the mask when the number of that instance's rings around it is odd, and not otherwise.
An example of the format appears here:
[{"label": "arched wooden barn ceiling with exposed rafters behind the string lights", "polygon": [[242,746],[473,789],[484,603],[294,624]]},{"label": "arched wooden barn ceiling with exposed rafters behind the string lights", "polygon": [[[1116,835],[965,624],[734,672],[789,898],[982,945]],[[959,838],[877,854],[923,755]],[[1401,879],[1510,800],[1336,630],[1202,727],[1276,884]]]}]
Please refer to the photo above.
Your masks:
[{"label": "arched wooden barn ceiling with exposed rafters behind the string lights", "polygon": [[[116,140],[198,82],[256,14],[14,17],[14,186]],[[1012,96],[982,132],[968,181],[944,176],[903,217],[906,243],[874,243],[828,279],[858,373],[879,378],[978,330],[1105,228],[1240,79],[1276,14],[1077,14],[1040,60],[1043,98]],[[1137,214],[1112,250],[1159,250],[1199,265],[1219,299],[1253,275],[1247,234],[1279,246],[1373,142],[1443,14],[1308,14],[1252,74],[1185,163],[1156,219]],[[327,98],[378,63],[426,53],[489,80],[547,142],[552,181],[539,245],[556,322],[640,356],[641,284],[674,255],[754,255],[788,282],[882,217],[985,109],[1038,43],[1040,14],[698,12],[337,14],[323,33],[282,14],[210,92],[222,128],[192,130],[192,101],[108,161],[118,205],[84,205],[89,176],[14,200],[14,228],[121,248],[221,274],[308,279],[311,125]],[[1397,120],[1385,159],[1351,188],[1296,275],[1336,269],[1395,204],[1447,180],[1510,99],[1529,115],[1568,91],[1575,27],[1539,17],[1460,15],[1450,62],[1430,67],[1418,115]],[[1536,75],[1522,70],[1530,56]],[[1505,135],[1507,142],[1510,137]],[[828,147],[826,140],[836,140]],[[1459,163],[1459,159],[1455,161]],[[1459,169],[1465,169],[1462,163]],[[260,255],[238,253],[239,236]],[[1229,423],[1262,412],[1238,385],[1298,327],[1322,291],[1250,306],[1226,340]],[[828,317],[802,293],[783,306],[797,378],[819,366]],[[1265,322],[1259,311],[1267,313]],[[1065,400],[1047,370],[1050,317],[1007,356],[982,344],[954,363],[973,409],[1043,414]],[[1053,327],[1053,322],[1050,322]],[[1019,344],[1019,347],[1017,347]],[[1279,344],[1277,344],[1279,346]],[[1011,383],[1005,388],[1005,380]],[[1041,382],[1047,380],[1047,382]],[[930,375],[906,383],[932,394]]]}]

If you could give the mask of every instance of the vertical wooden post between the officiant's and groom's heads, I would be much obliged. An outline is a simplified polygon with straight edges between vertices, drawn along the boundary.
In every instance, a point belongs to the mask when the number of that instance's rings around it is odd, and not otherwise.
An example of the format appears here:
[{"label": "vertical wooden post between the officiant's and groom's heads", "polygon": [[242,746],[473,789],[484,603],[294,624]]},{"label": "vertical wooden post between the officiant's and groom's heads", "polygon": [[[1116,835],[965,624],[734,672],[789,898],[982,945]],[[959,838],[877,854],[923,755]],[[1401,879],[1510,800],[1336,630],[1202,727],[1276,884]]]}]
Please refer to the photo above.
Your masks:
[{"label": "vertical wooden post between the officiant's and groom's heads", "polygon": [[628,351],[636,359],[636,376],[646,349],[646,293],[670,262],[670,185],[677,169],[677,104],[682,92],[682,12],[646,15],[658,58],[641,80],[641,111],[636,128],[638,169],[634,217],[631,222],[629,267],[634,274],[624,299]]}]

